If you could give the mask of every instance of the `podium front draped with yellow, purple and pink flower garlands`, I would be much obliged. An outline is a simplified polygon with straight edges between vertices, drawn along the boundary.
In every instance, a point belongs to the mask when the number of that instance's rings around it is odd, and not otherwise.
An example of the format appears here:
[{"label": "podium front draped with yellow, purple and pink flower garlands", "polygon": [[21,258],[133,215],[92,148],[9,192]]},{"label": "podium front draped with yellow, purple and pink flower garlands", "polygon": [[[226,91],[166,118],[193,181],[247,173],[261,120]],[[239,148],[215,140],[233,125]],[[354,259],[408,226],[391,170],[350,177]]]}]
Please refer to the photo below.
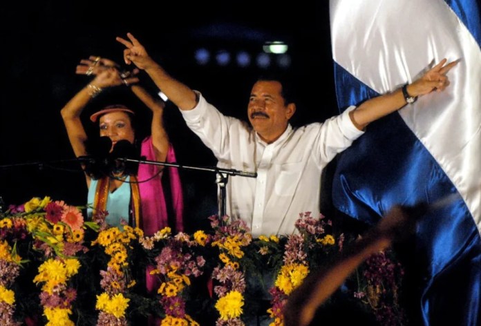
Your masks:
[{"label": "podium front draped with yellow, purple and pink flower garlands", "polygon": [[[82,207],[48,197],[1,214],[1,325],[249,325],[259,314],[283,325],[290,293],[355,241],[309,213],[298,233],[259,238],[227,216],[211,216],[211,228],[193,234],[164,228],[144,236],[109,227],[106,212],[86,221]],[[264,271],[272,284],[262,283]],[[343,291],[379,322],[400,325],[401,276],[379,253]],[[249,288],[256,282],[267,287],[267,309]]]}]

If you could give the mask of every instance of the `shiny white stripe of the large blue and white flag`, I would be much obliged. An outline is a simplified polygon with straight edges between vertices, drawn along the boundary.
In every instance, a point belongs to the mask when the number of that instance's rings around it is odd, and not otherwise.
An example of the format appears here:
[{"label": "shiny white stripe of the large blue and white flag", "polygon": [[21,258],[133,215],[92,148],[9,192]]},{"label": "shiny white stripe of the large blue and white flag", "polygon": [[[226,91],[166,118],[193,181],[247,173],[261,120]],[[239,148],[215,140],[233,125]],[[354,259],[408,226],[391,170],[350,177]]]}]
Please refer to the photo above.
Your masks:
[{"label": "shiny white stripe of the large blue and white flag", "polygon": [[429,63],[460,59],[449,72],[449,88],[399,114],[456,186],[481,231],[480,46],[443,0],[330,4],[334,61],[378,93],[413,81]]}]

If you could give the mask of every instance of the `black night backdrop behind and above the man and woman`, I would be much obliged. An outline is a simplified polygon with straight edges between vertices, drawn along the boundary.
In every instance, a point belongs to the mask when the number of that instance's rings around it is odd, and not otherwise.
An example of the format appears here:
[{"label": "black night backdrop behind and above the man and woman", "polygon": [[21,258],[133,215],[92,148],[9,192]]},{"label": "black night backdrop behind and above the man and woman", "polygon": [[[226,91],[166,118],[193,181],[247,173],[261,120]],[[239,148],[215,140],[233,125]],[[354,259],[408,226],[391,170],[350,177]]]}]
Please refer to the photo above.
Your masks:
[{"label": "black night backdrop behind and above the man and woman", "polygon": [[[75,75],[79,60],[100,55],[122,63],[123,46],[115,37],[125,37],[126,32],[132,32],[173,77],[200,90],[223,113],[241,119],[246,118],[256,77],[278,68],[256,68],[254,59],[246,68],[235,62],[218,66],[214,60],[200,66],[194,50],[203,47],[233,54],[246,50],[255,56],[265,41],[285,41],[291,65],[281,70],[295,86],[295,124],[323,121],[337,113],[328,1],[292,1],[285,6],[279,1],[250,0],[128,2],[129,6],[117,1],[2,4],[0,196],[6,204],[44,195],[85,204],[87,189],[78,164],[54,162],[74,157],[59,112],[90,80]],[[142,84],[155,93],[149,79]],[[107,91],[91,102],[85,116],[104,104],[122,102],[144,113],[141,120],[148,122],[149,110],[136,101],[126,88]],[[178,162],[216,164],[173,104],[168,104],[165,119]],[[145,126],[149,131],[149,124]],[[181,176],[187,214],[215,213],[215,175],[181,171]]]}]

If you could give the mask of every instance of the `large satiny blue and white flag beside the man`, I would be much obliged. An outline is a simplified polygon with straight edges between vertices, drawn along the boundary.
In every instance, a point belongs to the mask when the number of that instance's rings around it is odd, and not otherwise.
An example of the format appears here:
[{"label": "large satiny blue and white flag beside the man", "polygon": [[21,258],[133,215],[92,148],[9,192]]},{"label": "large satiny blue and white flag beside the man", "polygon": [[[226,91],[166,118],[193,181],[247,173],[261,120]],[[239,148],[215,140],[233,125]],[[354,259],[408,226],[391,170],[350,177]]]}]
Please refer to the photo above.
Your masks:
[{"label": "large satiny blue and white flag beside the man", "polygon": [[481,325],[481,23],[476,0],[331,0],[341,110],[440,62],[451,85],[368,126],[339,156],[333,200],[375,223],[394,204],[453,198],[417,229],[424,325]]}]

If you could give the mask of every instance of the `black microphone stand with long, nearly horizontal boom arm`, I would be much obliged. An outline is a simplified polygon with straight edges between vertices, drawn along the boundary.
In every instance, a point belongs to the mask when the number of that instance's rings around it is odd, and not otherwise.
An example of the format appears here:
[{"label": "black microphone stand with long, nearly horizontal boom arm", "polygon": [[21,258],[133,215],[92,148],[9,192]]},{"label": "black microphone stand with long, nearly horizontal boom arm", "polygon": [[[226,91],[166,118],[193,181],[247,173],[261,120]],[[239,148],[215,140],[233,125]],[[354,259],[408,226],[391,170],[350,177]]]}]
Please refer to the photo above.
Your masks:
[{"label": "black microphone stand with long, nearly horizontal boom arm", "polygon": [[227,198],[226,186],[227,186],[227,182],[229,181],[229,175],[239,175],[241,177],[257,178],[256,172],[238,171],[234,169],[223,169],[223,168],[218,168],[216,166],[215,167],[187,166],[187,165],[176,164],[176,163],[167,163],[167,162],[158,162],[158,161],[149,161],[149,160],[135,160],[127,157],[117,158],[117,160],[124,162],[124,164],[125,162],[135,162],[135,163],[142,163],[142,164],[170,166],[174,168],[187,169],[187,170],[215,172],[217,189],[218,189],[218,192],[220,193],[220,199],[218,200],[219,217],[226,215],[226,210],[225,210],[226,198]]}]

